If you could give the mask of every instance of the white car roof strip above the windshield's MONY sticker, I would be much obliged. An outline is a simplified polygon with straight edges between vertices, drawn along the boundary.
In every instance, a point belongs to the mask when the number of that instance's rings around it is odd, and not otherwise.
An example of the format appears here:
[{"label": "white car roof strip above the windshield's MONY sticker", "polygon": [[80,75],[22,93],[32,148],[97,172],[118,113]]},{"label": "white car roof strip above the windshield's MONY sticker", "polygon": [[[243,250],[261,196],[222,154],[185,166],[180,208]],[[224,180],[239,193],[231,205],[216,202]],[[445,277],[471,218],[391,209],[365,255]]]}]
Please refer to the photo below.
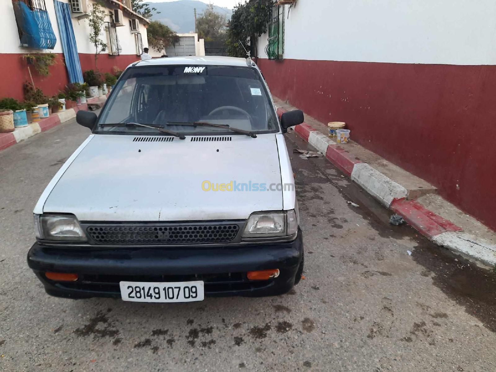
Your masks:
[{"label": "white car roof strip above the windshield's MONY sticker", "polygon": [[[133,66],[166,66],[166,65],[222,65],[222,66],[244,66],[247,67],[245,58],[221,57],[221,56],[188,56],[188,57],[164,57],[152,58],[151,60],[133,63]],[[254,64],[254,63],[253,63]]]}]

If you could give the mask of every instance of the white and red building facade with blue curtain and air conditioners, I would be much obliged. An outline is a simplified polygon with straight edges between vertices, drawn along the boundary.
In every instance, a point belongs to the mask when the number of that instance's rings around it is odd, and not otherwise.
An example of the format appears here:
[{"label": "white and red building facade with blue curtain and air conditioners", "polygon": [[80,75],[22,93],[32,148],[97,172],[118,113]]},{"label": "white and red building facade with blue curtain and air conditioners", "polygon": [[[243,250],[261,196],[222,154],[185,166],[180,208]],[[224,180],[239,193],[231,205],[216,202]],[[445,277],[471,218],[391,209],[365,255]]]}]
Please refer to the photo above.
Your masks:
[{"label": "white and red building facade with blue curtain and air conditioners", "polygon": [[[94,4],[105,11],[100,39],[106,50],[98,54],[96,64],[88,22]],[[31,81],[46,95],[53,95],[73,82],[71,73],[77,67],[73,64],[79,63],[82,71],[112,72],[114,67],[124,69],[139,60],[148,46],[149,22],[131,10],[130,0],[2,0],[0,19],[0,97],[21,100],[23,83]],[[49,76],[40,76],[32,66],[28,68],[23,58],[38,53],[56,55],[57,63],[50,67]]]}]

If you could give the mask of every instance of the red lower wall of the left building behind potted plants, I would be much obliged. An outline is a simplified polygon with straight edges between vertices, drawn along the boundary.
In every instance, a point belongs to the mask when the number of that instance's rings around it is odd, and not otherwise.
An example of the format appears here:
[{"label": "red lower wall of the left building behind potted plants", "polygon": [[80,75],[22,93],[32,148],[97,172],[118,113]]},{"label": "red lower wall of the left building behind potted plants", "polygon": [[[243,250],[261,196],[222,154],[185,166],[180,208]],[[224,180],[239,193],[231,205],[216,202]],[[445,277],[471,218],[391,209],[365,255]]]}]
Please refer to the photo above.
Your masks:
[{"label": "red lower wall of the left building behind potted plants", "polygon": [[[35,86],[42,89],[49,96],[56,94],[59,90],[63,90],[69,82],[63,55],[60,53],[56,56],[57,63],[50,67],[51,73],[49,76],[40,76],[36,69],[30,65]],[[95,69],[95,55],[79,54],[79,60],[83,71]],[[139,56],[122,55],[114,57],[101,54],[98,57],[98,68],[101,72],[113,72],[114,66],[124,69],[129,63],[137,60],[139,60]],[[0,98],[13,97],[17,100],[23,100],[22,85],[26,81],[31,81],[31,78],[28,64],[22,58],[22,54],[0,54],[0,66]]]}]

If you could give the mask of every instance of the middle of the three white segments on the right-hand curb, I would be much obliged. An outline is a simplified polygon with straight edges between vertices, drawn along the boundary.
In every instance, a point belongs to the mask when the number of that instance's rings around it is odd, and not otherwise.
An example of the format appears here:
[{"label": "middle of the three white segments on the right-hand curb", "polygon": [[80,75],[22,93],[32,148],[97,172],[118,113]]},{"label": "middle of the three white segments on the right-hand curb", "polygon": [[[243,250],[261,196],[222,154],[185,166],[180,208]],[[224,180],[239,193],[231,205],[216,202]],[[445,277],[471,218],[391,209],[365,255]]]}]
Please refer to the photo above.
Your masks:
[{"label": "middle of the three white segments on the right-hand curb", "polygon": [[394,199],[406,197],[408,190],[367,163],[355,164],[351,179],[389,208]]}]

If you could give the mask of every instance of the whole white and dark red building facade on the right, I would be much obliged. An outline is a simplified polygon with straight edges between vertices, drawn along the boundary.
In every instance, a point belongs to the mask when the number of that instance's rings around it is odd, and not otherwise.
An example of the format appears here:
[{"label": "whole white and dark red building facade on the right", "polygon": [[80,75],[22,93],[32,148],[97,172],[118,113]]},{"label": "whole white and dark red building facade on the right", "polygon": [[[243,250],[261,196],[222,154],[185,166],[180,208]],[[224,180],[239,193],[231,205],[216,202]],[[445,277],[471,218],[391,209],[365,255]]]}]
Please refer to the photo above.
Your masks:
[{"label": "whole white and dark red building facade on the right", "polygon": [[272,93],[496,229],[496,2],[285,2],[258,40]]}]

